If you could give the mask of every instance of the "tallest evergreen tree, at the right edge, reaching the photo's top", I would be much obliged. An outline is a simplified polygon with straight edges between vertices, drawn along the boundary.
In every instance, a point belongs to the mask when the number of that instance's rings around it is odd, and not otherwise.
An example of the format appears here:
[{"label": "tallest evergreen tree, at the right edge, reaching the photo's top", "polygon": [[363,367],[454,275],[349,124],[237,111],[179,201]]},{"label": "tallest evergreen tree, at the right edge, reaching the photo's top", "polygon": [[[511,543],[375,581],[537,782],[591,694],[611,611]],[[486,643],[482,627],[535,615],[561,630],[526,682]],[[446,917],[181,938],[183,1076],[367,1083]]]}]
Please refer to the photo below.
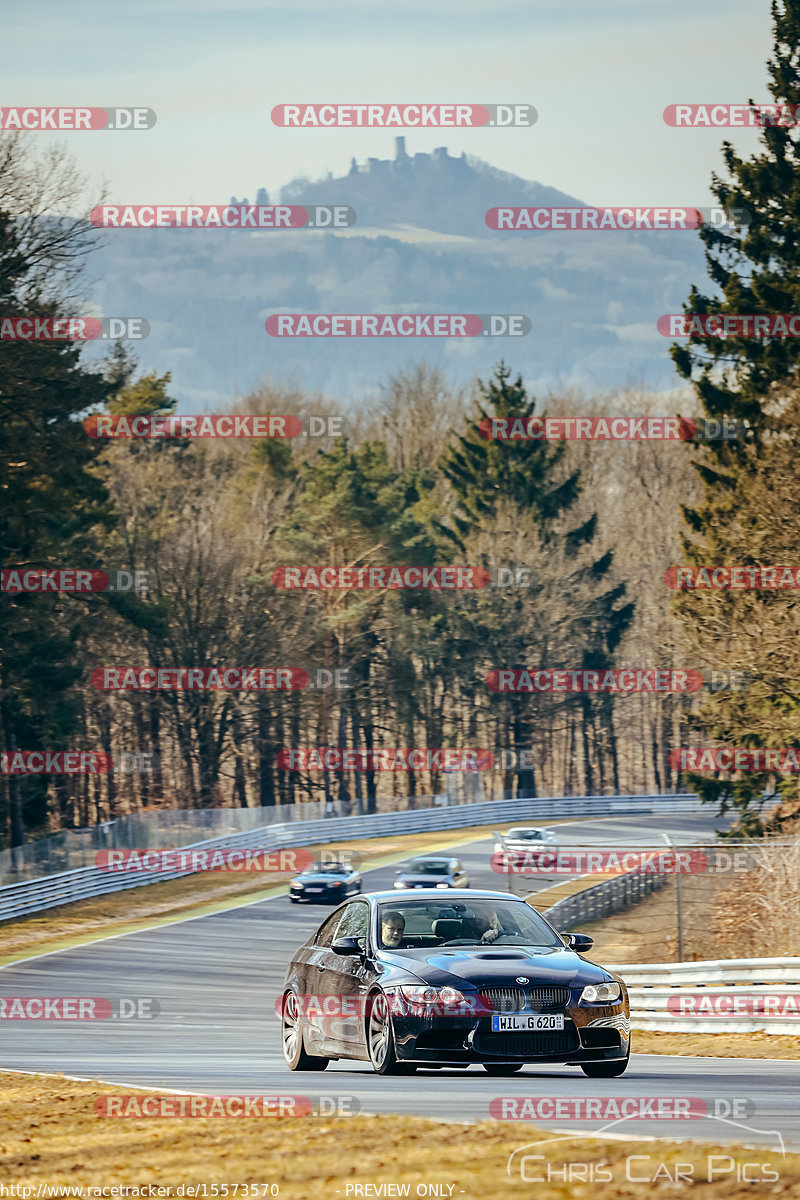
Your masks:
[{"label": "tallest evergreen tree, at the right edge, reaching the photo's top", "polygon": [[[769,91],[780,106],[800,104],[800,0],[772,0],[774,49],[768,61]],[[751,100],[752,103],[752,100]],[[741,158],[729,142],[722,146],[728,179],[712,175],[712,192],[726,211],[742,208],[750,223],[727,232],[703,227],[705,262],[711,294],[692,288],[685,311],[699,313],[796,313],[800,312],[800,138],[796,126],[765,124],[762,149]],[[787,420],[790,396],[800,368],[800,341],[793,337],[712,337],[674,346],[679,372],[694,386],[703,412],[711,418],[734,416],[746,433],[734,440],[711,442],[699,451],[696,467],[704,482],[700,504],[684,506],[688,534],[684,539],[688,562],[699,564],[770,565],[796,562],[800,545],[783,539],[770,546],[756,514],[763,510],[769,486],[765,469],[775,444],[798,448],[796,420]],[[796,505],[793,480],[783,476],[783,502]],[[781,557],[775,557],[778,553]],[[714,596],[688,592],[678,600],[690,648],[710,666],[742,666],[741,647],[758,650],[750,636],[753,628],[771,626],[775,605],[790,605],[786,593],[772,595],[721,592]],[[754,623],[754,624],[753,624]],[[714,632],[711,632],[714,631]],[[692,719],[699,734],[734,745],[769,745],[770,727],[787,730],[788,700],[781,680],[766,680],[766,662],[746,664],[766,686],[736,697],[712,696]],[[771,710],[771,725],[770,725]],[[789,722],[790,725],[792,722]],[[799,730],[800,732],[800,730]],[[786,733],[784,733],[786,736]],[[735,808],[742,828],[759,828],[756,814],[763,805],[769,779],[764,774],[738,780],[687,775],[688,784],[721,811]],[[784,780],[780,790],[796,791]]]}]

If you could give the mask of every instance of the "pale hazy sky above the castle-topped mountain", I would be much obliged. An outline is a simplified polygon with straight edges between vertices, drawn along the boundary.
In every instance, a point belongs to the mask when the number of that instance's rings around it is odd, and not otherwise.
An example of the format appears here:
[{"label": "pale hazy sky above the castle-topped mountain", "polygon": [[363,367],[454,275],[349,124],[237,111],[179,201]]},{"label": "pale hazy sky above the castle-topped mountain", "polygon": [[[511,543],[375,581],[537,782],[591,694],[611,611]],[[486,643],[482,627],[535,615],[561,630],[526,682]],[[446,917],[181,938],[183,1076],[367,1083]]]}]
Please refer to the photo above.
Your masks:
[{"label": "pale hazy sky above the castle-topped mountain", "polygon": [[[769,101],[768,0],[38,0],[4,6],[0,103],[137,104],[142,132],[61,133],[115,202],[275,198],[353,155],[447,145],[599,204],[706,204],[723,137],[674,102]],[[282,102],[528,102],[533,128],[282,130]],[[44,140],[50,134],[29,134]],[[501,203],[501,197],[499,202]]]}]

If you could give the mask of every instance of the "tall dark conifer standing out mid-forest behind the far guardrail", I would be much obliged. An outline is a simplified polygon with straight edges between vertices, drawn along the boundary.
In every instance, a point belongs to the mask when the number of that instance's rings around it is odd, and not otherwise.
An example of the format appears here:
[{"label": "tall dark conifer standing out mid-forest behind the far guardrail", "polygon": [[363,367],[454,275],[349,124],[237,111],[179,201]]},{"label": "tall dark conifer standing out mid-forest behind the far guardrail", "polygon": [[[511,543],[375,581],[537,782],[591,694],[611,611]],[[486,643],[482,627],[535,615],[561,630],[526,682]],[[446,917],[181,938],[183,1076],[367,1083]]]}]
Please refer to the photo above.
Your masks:
[{"label": "tall dark conifer standing out mid-forest behind the far guardrail", "polygon": [[[470,428],[441,457],[441,470],[456,500],[452,526],[443,528],[462,548],[481,533],[492,535],[493,545],[482,565],[489,569],[506,566],[498,558],[501,545],[497,539],[498,517],[503,512],[509,533],[516,526],[530,529],[525,565],[533,568],[534,581],[525,589],[511,588],[507,594],[498,590],[471,598],[475,622],[471,636],[483,648],[493,647],[492,667],[610,666],[613,653],[633,618],[633,605],[625,602],[624,583],[609,586],[612,551],[597,558],[591,556],[597,533],[596,515],[569,526],[570,510],[581,494],[579,472],[566,469],[564,444],[543,439],[500,440],[487,436],[497,419],[519,421],[519,426],[505,426],[511,432],[516,427],[527,428],[536,401],[528,396],[522,377],[512,380],[510,368],[500,364],[494,378],[488,384],[480,383],[479,388],[481,400],[476,402]],[[552,628],[553,604],[552,590],[545,581],[553,577],[553,570],[566,598],[559,644],[545,635],[545,629]],[[560,653],[570,653],[571,661],[557,661]],[[553,655],[549,661],[548,655]],[[549,701],[509,694],[493,696],[491,703],[498,714],[503,744],[510,744],[519,757],[522,750],[531,745],[541,704],[549,704]],[[615,739],[607,698],[581,695],[570,697],[566,703],[577,704],[582,710],[587,792],[596,788],[590,731],[597,744],[606,745],[610,754],[613,782],[618,788]],[[602,752],[600,757],[602,761]],[[511,784],[507,776],[506,790]],[[535,772],[517,772],[517,787],[519,792],[535,794]]]}]

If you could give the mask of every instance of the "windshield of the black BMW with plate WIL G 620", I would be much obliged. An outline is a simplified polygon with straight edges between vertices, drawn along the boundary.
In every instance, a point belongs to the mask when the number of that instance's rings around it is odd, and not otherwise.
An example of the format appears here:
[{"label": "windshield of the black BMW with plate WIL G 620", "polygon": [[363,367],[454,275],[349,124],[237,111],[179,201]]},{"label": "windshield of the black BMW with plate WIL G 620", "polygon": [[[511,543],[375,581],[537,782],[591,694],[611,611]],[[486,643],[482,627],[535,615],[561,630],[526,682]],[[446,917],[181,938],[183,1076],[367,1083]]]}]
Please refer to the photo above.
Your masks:
[{"label": "windshield of the black BMW with plate WIL G 620", "polygon": [[[398,919],[399,918],[399,919]],[[389,925],[399,932],[387,934]],[[437,946],[558,946],[560,937],[539,913],[518,900],[395,900],[380,905],[383,949]]]}]

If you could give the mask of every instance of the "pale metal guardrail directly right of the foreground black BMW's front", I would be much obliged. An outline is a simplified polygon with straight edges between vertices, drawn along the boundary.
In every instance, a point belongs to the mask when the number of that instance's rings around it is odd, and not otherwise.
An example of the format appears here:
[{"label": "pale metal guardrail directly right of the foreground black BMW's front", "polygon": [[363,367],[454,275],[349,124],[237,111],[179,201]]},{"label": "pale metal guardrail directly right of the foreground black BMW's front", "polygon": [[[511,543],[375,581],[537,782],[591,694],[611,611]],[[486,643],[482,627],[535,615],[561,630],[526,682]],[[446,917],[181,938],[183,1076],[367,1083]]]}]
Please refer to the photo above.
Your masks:
[{"label": "pale metal guardrail directly right of the foreground black BMW's front", "polygon": [[[624,964],[608,970],[628,986],[633,1030],[800,1034],[800,990],[787,996],[780,988],[800,985],[800,958]],[[708,997],[705,1012],[674,1010],[688,1007],[690,992],[692,1007]]]}]

